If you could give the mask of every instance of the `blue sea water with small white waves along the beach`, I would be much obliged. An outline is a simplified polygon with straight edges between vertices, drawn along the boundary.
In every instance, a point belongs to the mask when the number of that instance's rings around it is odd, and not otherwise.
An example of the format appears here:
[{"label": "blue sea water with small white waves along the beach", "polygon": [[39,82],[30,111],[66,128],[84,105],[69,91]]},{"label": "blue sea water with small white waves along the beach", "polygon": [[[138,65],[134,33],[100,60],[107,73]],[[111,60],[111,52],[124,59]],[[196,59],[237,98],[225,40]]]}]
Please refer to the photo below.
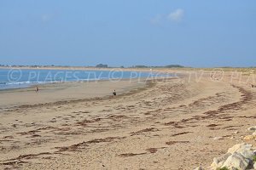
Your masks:
[{"label": "blue sea water with small white waves along the beach", "polygon": [[169,77],[152,71],[78,71],[78,70],[20,70],[0,69],[0,90],[9,88],[27,88],[32,85],[53,82],[88,82],[98,80],[119,81],[120,79],[138,79]]}]

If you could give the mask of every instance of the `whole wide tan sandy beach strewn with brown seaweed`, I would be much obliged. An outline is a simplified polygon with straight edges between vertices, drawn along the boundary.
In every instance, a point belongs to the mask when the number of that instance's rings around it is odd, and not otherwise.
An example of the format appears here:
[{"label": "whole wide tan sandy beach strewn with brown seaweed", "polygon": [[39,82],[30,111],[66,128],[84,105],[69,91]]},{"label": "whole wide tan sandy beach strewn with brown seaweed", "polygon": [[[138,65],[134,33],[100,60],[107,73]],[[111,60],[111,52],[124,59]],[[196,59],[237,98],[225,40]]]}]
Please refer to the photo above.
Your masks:
[{"label": "whole wide tan sandy beach strewn with brown seaweed", "polygon": [[0,168],[207,167],[255,125],[256,88],[195,73],[1,92]]}]

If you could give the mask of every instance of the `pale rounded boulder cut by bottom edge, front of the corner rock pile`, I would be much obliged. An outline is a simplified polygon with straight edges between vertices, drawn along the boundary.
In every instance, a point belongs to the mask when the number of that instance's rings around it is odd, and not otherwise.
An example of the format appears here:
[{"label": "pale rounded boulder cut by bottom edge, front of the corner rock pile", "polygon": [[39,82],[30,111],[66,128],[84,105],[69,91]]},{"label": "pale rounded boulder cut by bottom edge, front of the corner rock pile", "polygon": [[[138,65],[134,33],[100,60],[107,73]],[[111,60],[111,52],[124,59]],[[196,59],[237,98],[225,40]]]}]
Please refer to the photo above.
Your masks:
[{"label": "pale rounded boulder cut by bottom edge, front of the corner rock pile", "polygon": [[231,156],[228,157],[228,159],[224,162],[222,167],[228,167],[228,168],[237,168],[239,170],[245,170],[247,166],[249,165],[249,160],[242,156],[239,153],[233,153]]}]

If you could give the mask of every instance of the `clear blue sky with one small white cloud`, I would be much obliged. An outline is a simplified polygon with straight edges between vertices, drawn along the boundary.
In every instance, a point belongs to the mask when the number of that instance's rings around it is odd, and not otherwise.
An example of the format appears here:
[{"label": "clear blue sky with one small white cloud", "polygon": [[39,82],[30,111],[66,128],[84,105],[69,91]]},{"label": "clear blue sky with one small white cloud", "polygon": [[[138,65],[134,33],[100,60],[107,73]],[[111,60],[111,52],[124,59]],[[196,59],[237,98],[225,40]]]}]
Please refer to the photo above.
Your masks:
[{"label": "clear blue sky with one small white cloud", "polygon": [[255,0],[0,0],[0,64],[256,66],[255,8]]}]

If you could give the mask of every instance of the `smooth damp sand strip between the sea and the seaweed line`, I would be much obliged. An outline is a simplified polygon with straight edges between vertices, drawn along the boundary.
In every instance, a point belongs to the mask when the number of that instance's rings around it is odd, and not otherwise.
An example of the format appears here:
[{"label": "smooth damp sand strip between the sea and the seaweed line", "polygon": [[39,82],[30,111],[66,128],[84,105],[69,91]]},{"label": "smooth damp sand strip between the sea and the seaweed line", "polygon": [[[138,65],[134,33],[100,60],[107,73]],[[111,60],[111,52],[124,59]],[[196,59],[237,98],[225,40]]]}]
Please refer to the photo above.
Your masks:
[{"label": "smooth damp sand strip between the sea and the seaweed line", "polygon": [[[5,89],[0,91],[0,109],[18,105],[55,103],[63,100],[104,98],[113,95],[113,89],[117,90],[118,95],[120,95],[129,93],[137,88],[145,88],[147,84],[148,80],[141,78],[140,80],[121,79],[118,82],[99,80],[89,82],[45,83],[38,86],[38,93],[34,90],[37,85],[28,88]],[[22,96],[28,96],[28,99],[22,99]]]}]

